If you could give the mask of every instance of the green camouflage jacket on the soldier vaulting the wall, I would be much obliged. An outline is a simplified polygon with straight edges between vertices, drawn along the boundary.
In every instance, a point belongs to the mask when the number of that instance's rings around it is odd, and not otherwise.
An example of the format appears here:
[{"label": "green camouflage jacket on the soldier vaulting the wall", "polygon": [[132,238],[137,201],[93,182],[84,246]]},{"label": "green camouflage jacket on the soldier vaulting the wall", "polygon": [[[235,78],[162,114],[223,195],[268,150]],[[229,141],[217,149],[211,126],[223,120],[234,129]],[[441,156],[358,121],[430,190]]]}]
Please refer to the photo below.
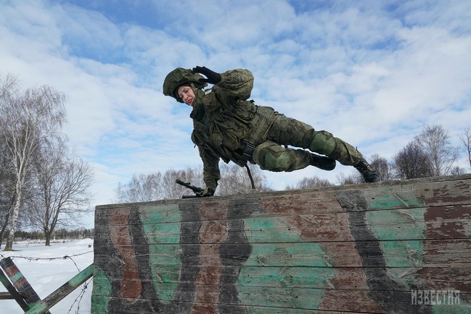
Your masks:
[{"label": "green camouflage jacket on the soldier vaulting the wall", "polygon": [[221,74],[221,81],[211,89],[196,91],[191,140],[203,161],[203,180],[215,190],[220,179],[219,158],[226,163],[246,163],[241,156],[247,143],[261,143],[273,123],[273,108],[247,100],[252,88],[250,71],[236,69]]}]

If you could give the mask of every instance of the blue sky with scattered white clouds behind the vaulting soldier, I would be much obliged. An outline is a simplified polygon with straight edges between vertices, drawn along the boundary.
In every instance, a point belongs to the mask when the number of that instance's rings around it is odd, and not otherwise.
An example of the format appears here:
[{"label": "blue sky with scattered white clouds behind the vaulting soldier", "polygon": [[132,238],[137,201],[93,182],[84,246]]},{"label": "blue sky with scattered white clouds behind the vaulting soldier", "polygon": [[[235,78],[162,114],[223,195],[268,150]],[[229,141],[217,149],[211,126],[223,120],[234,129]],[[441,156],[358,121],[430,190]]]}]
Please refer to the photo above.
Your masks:
[{"label": "blue sky with scattered white clouds behind the vaulting soldier", "polygon": [[[66,93],[64,128],[96,204],[133,173],[201,166],[176,67],[249,69],[251,98],[392,158],[427,124],[457,145],[471,117],[471,1],[0,0],[0,76]],[[463,156],[464,157],[464,156]],[[462,160],[465,167],[465,158]],[[305,176],[268,173],[283,189]]]}]

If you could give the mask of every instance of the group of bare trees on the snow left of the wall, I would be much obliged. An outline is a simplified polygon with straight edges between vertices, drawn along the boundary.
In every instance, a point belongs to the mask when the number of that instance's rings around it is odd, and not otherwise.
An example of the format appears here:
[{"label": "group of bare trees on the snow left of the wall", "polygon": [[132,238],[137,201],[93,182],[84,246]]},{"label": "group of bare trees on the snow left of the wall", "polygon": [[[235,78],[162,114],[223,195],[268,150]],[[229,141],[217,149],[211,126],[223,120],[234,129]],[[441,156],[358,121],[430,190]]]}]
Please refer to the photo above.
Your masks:
[{"label": "group of bare trees on the snow left of the wall", "polygon": [[21,90],[0,78],[0,245],[11,250],[21,227],[39,229],[46,245],[59,227],[90,211],[91,166],[74,154],[61,131],[64,93],[51,86]]}]

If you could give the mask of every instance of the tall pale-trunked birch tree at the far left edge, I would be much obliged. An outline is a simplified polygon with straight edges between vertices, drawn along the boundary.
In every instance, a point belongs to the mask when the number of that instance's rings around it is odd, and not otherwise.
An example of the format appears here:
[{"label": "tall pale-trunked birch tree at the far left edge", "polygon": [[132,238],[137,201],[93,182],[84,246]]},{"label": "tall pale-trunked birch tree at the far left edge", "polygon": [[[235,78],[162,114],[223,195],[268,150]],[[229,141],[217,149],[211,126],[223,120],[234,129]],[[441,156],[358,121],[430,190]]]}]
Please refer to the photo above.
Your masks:
[{"label": "tall pale-trunked birch tree at the far left edge", "polygon": [[14,173],[14,199],[9,208],[5,250],[11,250],[13,246],[25,188],[29,184],[32,158],[41,143],[58,135],[66,120],[64,101],[64,94],[50,86],[21,92],[16,79],[9,75],[0,84],[0,138],[11,156]]}]

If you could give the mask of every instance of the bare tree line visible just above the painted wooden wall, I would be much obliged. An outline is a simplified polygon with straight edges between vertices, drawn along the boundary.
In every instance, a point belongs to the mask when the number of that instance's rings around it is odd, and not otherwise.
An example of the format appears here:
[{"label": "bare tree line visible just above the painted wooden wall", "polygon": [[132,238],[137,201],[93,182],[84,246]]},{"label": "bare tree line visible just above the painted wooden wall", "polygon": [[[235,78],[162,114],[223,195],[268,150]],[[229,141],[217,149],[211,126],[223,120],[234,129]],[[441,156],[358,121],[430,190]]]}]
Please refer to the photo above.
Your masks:
[{"label": "bare tree line visible just above the painted wooden wall", "polygon": [[[445,128],[440,125],[425,126],[415,138],[400,149],[392,160],[378,154],[370,156],[369,161],[378,171],[382,181],[402,180],[411,178],[425,178],[430,176],[447,176],[467,173],[471,169],[471,129],[466,128],[460,136],[461,146],[453,146],[451,138]],[[467,154],[470,168],[457,166],[460,153]],[[234,163],[220,163],[221,180],[218,182],[216,195],[233,195],[253,193],[250,178],[245,168]],[[258,166],[249,165],[250,173],[255,182],[255,191],[273,191],[266,176]],[[193,193],[183,186],[175,183],[176,178],[191,183],[193,186],[203,187],[203,171],[201,167],[186,168],[183,170],[168,170],[155,173],[134,174],[128,183],[118,183],[115,188],[115,201],[117,203],[133,203],[143,201],[156,201],[162,199],[176,199],[183,195]],[[357,171],[351,174],[340,173],[338,184],[364,183],[363,177]],[[327,179],[313,176],[303,178],[294,185],[286,186],[285,190],[300,188],[315,188],[333,186]]]}]

